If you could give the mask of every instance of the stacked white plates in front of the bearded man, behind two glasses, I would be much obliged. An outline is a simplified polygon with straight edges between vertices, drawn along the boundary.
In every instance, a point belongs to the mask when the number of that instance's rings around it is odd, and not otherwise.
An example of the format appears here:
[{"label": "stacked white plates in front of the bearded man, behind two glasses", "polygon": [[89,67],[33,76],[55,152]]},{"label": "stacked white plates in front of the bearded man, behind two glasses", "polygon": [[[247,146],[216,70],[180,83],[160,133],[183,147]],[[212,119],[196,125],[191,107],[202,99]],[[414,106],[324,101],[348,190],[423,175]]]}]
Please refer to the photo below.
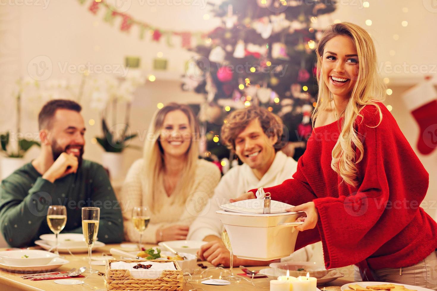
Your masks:
[{"label": "stacked white plates in front of the bearded man, behind two glasses", "polygon": [[[39,236],[41,240],[35,241],[35,244],[41,246],[44,250],[54,249],[56,239],[54,234],[43,234]],[[105,246],[104,243],[96,241],[93,250]],[[58,235],[59,253],[86,253],[88,246],[85,243],[81,233],[60,233]]]}]

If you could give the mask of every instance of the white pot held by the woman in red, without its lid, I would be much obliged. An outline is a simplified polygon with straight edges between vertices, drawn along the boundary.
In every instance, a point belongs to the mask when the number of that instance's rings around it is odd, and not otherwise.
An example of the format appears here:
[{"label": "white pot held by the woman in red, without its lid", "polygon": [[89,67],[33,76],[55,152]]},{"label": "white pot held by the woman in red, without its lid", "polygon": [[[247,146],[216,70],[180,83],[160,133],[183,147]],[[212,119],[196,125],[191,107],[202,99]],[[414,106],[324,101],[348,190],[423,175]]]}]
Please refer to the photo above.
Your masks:
[{"label": "white pot held by the woman in red, without its lid", "polygon": [[296,219],[302,212],[247,214],[217,211],[228,232],[232,252],[250,260],[276,260],[295,250],[298,230]]}]

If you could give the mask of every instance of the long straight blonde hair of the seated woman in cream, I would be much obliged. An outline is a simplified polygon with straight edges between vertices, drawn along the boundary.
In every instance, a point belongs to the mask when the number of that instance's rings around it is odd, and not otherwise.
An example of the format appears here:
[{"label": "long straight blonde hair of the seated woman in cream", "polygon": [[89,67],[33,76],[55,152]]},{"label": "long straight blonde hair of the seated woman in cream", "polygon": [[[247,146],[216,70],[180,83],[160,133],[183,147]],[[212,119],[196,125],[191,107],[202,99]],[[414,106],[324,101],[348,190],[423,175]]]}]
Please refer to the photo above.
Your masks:
[{"label": "long straight blonde hair of the seated woman in cream", "polygon": [[146,193],[148,193],[148,204],[152,212],[160,206],[156,203],[156,195],[162,195],[162,193],[157,191],[157,189],[162,189],[163,173],[165,170],[164,151],[161,146],[160,135],[163,129],[165,116],[167,113],[175,110],[182,111],[188,117],[190,123],[189,127],[191,128],[191,144],[186,153],[186,164],[179,182],[173,191],[177,196],[175,202],[184,203],[191,194],[190,190],[199,157],[199,124],[190,107],[178,103],[169,103],[154,114],[147,132],[146,142],[144,143],[144,168],[142,171],[142,182],[143,185],[145,185]]}]

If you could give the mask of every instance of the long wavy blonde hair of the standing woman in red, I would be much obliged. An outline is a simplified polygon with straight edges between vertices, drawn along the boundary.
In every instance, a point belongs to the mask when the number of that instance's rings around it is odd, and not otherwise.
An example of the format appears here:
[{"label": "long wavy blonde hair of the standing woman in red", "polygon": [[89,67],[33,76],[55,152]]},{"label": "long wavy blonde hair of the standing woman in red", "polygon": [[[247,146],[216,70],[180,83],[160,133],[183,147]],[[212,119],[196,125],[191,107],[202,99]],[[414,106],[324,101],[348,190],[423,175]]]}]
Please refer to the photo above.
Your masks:
[{"label": "long wavy blonde hair of the standing woman in red", "polygon": [[[317,48],[317,82],[319,84],[319,94],[317,105],[313,111],[312,120],[314,121],[320,112],[328,110],[331,106],[333,96],[329,92],[328,86],[323,81],[322,57],[326,43],[339,35],[348,36],[354,42],[358,55],[358,75],[357,82],[350,93],[347,106],[338,116],[344,117],[340,124],[341,133],[332,151],[331,168],[336,171],[343,181],[349,185],[357,186],[357,163],[363,159],[364,146],[357,135],[354,127],[357,116],[362,116],[360,111],[366,105],[375,105],[378,108],[380,123],[382,120],[381,108],[377,102],[385,99],[385,84],[382,82],[377,70],[377,58],[375,45],[370,35],[363,28],[349,22],[332,24],[323,31]],[[379,123],[378,123],[379,125]],[[377,126],[378,126],[377,125]],[[356,155],[355,149],[359,150]]]}]

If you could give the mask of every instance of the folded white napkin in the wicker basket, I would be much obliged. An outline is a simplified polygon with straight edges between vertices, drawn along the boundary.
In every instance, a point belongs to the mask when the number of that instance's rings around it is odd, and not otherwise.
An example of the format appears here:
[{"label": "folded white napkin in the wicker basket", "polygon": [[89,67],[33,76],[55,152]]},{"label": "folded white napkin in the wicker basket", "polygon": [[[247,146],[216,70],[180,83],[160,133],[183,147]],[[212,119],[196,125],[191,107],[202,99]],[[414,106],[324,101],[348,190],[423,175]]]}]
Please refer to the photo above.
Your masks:
[{"label": "folded white napkin in the wicker basket", "polygon": [[131,272],[132,277],[134,278],[147,278],[147,279],[156,279],[161,276],[163,270],[176,270],[173,262],[168,263],[157,263],[150,261],[139,262],[143,265],[152,265],[150,269],[134,269],[138,263],[126,263],[126,262],[114,262],[111,263],[111,269],[113,270],[129,270]]}]

